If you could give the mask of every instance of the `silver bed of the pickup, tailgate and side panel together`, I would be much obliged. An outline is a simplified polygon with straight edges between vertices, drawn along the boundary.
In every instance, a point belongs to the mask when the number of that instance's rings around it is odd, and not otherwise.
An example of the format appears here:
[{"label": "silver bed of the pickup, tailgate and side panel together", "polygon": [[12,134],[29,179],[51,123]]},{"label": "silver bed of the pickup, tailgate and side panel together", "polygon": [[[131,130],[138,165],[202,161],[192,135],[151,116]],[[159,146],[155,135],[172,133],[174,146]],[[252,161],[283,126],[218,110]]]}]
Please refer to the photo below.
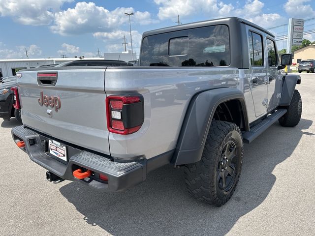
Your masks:
[{"label": "silver bed of the pickup, tailgate and side panel together", "polygon": [[[44,72],[58,73],[55,86],[39,85],[38,70],[23,71],[18,79],[23,123],[52,138],[122,160],[149,159],[173,150],[192,96],[207,89],[242,90],[240,75],[246,76],[233,67],[61,67]],[[38,103],[41,91],[60,97],[60,109],[50,109],[52,117],[47,114],[49,106]],[[140,130],[130,135],[108,132],[106,96],[134,92],[144,98]]]}]

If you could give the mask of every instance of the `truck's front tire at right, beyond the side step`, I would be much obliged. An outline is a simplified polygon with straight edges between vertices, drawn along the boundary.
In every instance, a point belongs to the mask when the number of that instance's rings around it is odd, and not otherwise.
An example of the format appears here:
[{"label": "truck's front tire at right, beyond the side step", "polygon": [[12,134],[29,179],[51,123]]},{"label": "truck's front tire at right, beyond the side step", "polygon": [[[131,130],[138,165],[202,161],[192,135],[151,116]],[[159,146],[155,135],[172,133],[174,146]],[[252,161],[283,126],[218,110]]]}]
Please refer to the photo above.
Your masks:
[{"label": "truck's front tire at right, beyond the side step", "polygon": [[302,115],[302,99],[298,90],[294,90],[291,103],[285,108],[287,112],[279,119],[279,123],[285,127],[296,126],[300,122]]}]

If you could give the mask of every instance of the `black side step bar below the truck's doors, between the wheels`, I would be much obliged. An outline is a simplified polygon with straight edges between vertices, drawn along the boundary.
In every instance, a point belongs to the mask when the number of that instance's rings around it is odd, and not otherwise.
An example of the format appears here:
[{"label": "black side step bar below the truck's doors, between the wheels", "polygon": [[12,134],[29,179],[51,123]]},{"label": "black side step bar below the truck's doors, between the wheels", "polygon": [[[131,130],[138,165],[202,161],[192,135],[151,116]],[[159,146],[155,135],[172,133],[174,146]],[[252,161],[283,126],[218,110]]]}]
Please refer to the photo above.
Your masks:
[{"label": "black side step bar below the truck's doors, between the wheels", "polygon": [[266,129],[268,129],[273,123],[281,118],[287,112],[286,109],[278,109],[276,112],[271,114],[269,117],[264,118],[258,124],[251,127],[250,131],[243,133],[244,143],[249,144]]}]

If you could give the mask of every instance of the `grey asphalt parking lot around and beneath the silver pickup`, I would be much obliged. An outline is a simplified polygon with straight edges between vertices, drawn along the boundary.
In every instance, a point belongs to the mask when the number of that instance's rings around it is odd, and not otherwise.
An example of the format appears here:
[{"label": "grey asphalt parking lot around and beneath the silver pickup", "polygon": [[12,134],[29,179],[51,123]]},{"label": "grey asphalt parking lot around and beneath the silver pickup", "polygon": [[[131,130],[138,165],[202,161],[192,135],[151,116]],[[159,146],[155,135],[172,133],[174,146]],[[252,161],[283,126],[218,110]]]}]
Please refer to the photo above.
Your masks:
[{"label": "grey asphalt parking lot around and beneath the silver pickup", "polygon": [[48,182],[13,143],[16,120],[1,119],[0,235],[315,235],[315,74],[300,75],[299,125],[277,122],[245,145],[238,187],[220,208],[192,199],[172,166],[122,193]]}]

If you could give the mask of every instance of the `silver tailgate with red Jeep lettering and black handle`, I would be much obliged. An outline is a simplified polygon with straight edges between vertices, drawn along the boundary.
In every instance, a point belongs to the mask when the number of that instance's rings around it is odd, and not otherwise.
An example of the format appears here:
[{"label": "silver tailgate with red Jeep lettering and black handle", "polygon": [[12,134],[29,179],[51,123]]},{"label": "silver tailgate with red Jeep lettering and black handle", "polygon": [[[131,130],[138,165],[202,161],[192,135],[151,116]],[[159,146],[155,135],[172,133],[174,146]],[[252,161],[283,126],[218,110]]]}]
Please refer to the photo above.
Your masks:
[{"label": "silver tailgate with red Jeep lettering and black handle", "polygon": [[[49,73],[55,72],[54,86],[38,82],[45,76],[49,80]],[[37,73],[42,74],[37,77]],[[52,138],[110,154],[104,83],[105,68],[22,72],[18,85],[23,124]]]}]

